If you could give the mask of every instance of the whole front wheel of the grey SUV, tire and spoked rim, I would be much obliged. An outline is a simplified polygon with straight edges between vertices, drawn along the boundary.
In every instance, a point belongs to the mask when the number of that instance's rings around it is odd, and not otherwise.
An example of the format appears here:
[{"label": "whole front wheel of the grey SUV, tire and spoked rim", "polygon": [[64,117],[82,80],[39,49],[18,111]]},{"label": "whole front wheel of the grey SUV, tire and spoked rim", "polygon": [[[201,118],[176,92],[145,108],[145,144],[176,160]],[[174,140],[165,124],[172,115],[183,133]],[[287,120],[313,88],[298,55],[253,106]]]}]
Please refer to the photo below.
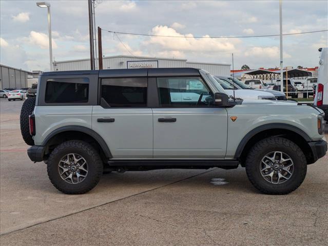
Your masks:
[{"label": "whole front wheel of the grey SUV, tire and spoked rim", "polygon": [[249,181],[265,194],[283,195],[296,190],[306,174],[306,158],[291,140],[265,138],[250,149],[246,158]]}]

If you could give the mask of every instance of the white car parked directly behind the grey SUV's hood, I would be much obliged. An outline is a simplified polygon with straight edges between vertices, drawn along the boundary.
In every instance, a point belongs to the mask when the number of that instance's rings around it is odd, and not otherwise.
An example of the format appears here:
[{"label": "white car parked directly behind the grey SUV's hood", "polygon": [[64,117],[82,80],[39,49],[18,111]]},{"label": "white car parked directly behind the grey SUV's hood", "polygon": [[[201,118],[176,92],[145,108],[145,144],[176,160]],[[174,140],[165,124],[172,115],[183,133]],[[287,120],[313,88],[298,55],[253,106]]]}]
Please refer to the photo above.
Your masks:
[{"label": "white car parked directly behind the grey SUV's hood", "polygon": [[[256,91],[256,90],[246,90],[246,89],[238,89],[230,85],[227,81],[220,79],[219,77],[214,76],[214,78],[218,81],[218,84],[223,87],[223,89],[230,95],[236,98],[241,99],[263,99],[263,100],[276,100],[276,97],[270,93],[265,91]],[[235,91],[235,92],[234,92]]]}]

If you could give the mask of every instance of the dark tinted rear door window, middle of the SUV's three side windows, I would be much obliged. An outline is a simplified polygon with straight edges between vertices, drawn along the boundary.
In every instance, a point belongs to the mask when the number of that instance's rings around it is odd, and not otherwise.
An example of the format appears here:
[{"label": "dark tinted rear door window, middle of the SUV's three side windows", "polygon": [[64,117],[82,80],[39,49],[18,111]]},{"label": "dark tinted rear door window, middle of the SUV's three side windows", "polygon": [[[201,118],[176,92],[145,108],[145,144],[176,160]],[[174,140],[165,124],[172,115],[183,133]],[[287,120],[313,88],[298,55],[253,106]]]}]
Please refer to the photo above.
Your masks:
[{"label": "dark tinted rear door window, middle of the SUV's three side windows", "polygon": [[147,78],[105,78],[101,80],[100,105],[147,107]]}]

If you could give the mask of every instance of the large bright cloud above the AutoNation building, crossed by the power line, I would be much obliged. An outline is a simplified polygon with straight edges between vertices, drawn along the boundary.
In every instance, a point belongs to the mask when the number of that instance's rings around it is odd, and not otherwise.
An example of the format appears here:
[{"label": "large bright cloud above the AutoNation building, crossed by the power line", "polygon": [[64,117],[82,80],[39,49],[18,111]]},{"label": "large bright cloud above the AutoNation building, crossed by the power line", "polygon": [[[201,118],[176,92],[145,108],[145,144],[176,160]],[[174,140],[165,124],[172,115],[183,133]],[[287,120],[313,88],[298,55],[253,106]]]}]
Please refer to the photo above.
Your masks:
[{"label": "large bright cloud above the AutoNation building, crossed by the power line", "polygon": [[[144,42],[145,46],[156,46],[159,51],[186,51],[186,52],[231,52],[235,49],[235,45],[240,42],[239,39],[228,40],[227,38],[210,38],[208,35],[197,39],[192,34],[181,34],[175,29],[167,26],[156,26],[152,28],[152,34],[176,37],[155,37],[152,36]],[[187,37],[187,38],[184,38]]]}]

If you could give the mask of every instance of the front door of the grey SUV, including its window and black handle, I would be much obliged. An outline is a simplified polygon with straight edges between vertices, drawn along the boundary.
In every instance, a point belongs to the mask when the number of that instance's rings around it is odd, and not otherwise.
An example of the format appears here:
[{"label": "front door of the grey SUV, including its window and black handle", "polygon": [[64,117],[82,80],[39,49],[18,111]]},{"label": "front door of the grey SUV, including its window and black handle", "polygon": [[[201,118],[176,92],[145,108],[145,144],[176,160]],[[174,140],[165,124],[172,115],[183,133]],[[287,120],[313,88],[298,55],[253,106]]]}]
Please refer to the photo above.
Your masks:
[{"label": "front door of the grey SUV, including its window and black handle", "polygon": [[153,157],[221,159],[226,152],[227,111],[216,108],[201,77],[157,78]]}]

